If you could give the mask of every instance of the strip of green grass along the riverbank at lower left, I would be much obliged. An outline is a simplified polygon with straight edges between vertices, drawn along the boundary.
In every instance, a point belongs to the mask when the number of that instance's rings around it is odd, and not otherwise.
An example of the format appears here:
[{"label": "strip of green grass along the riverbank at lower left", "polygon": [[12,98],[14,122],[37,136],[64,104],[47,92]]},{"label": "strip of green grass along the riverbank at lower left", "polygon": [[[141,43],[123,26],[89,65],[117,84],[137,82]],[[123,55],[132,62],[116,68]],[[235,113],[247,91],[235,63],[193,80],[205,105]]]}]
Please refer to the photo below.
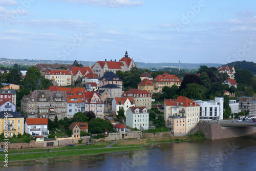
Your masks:
[{"label": "strip of green grass along the riverbank at lower left", "polygon": [[[101,148],[101,149],[84,149],[80,151],[67,151],[67,152],[46,152],[46,153],[35,153],[35,154],[19,154],[19,155],[9,155],[8,161],[30,161],[30,160],[40,160],[49,159],[54,157],[67,157],[67,156],[94,156],[105,153],[115,153],[124,152],[131,150],[145,149],[144,147],[120,147],[120,148]],[[0,162],[4,161],[4,158],[0,158]]]}]

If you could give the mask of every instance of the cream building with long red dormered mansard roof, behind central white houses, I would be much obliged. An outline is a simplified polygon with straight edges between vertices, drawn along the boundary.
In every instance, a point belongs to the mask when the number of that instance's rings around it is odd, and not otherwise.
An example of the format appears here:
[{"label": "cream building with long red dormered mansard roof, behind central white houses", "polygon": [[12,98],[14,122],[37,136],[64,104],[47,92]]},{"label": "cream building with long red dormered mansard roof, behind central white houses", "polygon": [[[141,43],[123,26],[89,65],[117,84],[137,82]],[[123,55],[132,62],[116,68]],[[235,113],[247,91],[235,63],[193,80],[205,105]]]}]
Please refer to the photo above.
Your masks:
[{"label": "cream building with long red dormered mansard roof, behind central white houses", "polygon": [[146,106],[147,109],[151,109],[152,94],[145,90],[131,89],[124,92],[122,97],[133,97],[135,106]]}]

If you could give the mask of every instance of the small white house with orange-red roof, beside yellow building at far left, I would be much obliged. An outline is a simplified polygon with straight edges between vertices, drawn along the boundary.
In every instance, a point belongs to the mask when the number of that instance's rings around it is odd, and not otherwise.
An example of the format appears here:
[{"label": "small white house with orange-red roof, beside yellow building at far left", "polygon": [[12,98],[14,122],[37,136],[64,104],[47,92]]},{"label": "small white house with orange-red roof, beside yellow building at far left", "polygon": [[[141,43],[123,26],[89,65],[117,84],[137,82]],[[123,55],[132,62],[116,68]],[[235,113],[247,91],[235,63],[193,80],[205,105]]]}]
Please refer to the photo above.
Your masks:
[{"label": "small white house with orange-red roof, beside yellow building at far left", "polygon": [[49,135],[47,118],[27,118],[25,133],[47,137]]}]

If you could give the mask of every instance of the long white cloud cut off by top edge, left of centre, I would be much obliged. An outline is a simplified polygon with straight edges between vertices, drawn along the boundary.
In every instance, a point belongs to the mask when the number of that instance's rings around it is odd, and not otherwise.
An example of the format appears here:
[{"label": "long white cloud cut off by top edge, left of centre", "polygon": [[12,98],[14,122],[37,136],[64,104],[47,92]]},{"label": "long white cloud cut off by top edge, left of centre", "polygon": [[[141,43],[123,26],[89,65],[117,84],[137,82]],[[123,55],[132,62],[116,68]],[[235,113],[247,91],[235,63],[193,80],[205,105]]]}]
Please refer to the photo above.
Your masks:
[{"label": "long white cloud cut off by top edge, left of centre", "polygon": [[143,0],[52,0],[52,1],[62,1],[65,3],[72,4],[87,4],[92,6],[103,6],[103,7],[122,7],[122,6],[139,6],[143,5]]}]

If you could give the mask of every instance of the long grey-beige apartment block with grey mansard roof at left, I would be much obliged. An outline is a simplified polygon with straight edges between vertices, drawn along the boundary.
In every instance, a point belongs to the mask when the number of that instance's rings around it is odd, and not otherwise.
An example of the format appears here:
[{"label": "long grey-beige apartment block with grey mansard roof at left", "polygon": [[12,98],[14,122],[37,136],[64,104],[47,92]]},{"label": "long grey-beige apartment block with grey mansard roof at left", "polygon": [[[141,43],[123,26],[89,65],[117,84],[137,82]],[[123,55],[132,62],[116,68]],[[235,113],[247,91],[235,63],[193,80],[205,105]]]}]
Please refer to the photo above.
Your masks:
[{"label": "long grey-beige apartment block with grey mansard roof at left", "polygon": [[21,100],[20,109],[27,118],[67,117],[67,95],[65,91],[34,90]]}]

